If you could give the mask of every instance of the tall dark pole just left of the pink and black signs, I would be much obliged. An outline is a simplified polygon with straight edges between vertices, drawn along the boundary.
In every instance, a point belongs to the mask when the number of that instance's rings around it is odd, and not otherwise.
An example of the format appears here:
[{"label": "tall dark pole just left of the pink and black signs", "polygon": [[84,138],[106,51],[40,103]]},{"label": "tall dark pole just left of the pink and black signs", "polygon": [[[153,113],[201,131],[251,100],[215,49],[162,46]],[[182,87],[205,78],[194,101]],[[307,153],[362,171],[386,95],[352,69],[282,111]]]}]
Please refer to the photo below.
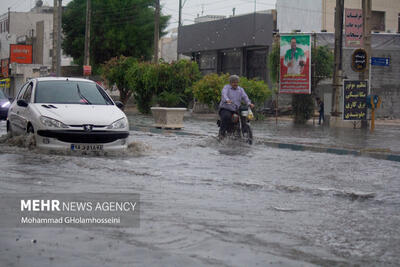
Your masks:
[{"label": "tall dark pole just left of the pink and black signs", "polygon": [[339,96],[342,88],[342,43],[343,43],[343,13],[344,0],[336,0],[335,9],[335,69],[333,72],[333,91],[332,91],[332,116],[340,115]]}]

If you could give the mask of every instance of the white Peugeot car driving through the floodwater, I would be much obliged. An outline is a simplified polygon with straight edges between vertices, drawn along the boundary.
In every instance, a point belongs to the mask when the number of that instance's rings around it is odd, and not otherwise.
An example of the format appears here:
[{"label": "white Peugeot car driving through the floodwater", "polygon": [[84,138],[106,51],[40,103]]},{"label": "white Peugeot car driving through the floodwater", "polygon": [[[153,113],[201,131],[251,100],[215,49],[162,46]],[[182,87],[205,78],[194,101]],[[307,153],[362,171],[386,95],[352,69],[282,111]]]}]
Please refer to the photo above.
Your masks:
[{"label": "white Peugeot car driving through the floodwater", "polygon": [[36,78],[9,108],[7,131],[33,133],[36,146],[55,150],[127,148],[128,119],[97,83],[79,78]]}]

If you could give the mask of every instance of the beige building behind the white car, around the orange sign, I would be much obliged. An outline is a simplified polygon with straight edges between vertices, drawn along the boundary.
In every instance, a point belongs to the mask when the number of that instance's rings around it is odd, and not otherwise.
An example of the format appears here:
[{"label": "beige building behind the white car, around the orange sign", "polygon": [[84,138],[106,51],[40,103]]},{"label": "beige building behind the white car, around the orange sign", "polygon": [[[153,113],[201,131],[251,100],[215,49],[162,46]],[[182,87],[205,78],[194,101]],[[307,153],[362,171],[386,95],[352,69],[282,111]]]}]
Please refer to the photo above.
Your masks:
[{"label": "beige building behind the white car, around the orange sign", "polygon": [[[14,97],[18,89],[30,78],[51,73],[53,55],[53,7],[36,6],[29,12],[7,12],[0,16],[0,59],[10,58],[10,45],[32,46],[30,64],[9,61],[10,88],[6,92]],[[72,58],[61,56],[61,65],[71,65]]]}]

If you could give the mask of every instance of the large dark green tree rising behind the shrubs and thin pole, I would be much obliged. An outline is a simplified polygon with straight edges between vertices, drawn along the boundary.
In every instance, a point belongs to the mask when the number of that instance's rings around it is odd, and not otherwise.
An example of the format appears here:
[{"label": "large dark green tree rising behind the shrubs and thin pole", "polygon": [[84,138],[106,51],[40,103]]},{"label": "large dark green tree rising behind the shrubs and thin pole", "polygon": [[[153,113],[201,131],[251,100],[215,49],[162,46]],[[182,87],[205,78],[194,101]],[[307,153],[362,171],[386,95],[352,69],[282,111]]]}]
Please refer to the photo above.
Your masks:
[{"label": "large dark green tree rising behind the shrubs and thin pole", "polygon": [[[92,0],[90,58],[94,67],[112,57],[148,60],[154,38],[153,0]],[[169,16],[160,16],[160,36]],[[82,65],[85,43],[86,0],[68,3],[63,14],[66,54]]]}]

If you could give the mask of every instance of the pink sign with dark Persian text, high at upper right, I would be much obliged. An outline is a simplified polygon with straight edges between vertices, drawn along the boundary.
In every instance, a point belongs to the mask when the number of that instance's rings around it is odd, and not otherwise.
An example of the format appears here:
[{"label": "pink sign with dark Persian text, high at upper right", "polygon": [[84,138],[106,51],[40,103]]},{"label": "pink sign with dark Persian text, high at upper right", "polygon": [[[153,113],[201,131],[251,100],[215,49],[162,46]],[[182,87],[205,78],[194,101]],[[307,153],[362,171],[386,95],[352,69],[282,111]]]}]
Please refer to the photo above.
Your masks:
[{"label": "pink sign with dark Persian text, high at upper right", "polygon": [[346,47],[363,46],[363,18],[361,9],[345,10]]}]

